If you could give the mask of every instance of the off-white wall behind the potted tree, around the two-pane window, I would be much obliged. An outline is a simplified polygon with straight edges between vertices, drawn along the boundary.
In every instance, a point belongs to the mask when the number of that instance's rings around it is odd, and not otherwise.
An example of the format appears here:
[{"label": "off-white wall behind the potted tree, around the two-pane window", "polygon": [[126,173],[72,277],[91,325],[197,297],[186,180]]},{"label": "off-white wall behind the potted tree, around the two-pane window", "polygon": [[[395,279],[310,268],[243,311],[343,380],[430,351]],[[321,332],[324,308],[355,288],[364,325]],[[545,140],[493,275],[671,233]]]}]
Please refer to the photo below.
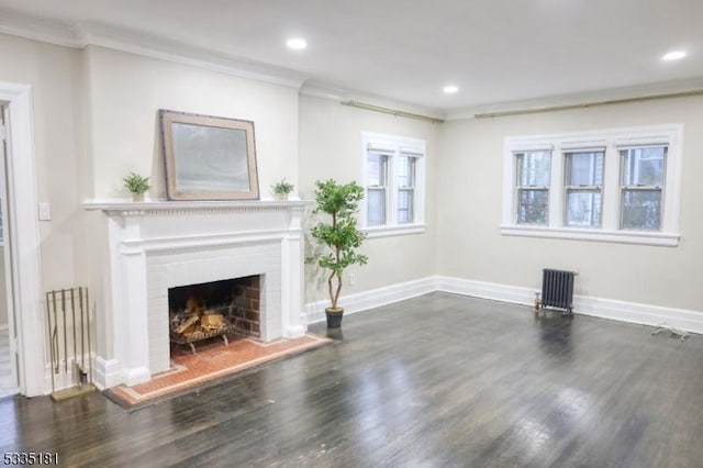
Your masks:
[{"label": "off-white wall behind the potted tree, around the two-pane window", "polygon": [[[315,180],[361,182],[361,132],[377,132],[425,140],[426,191],[424,234],[368,238],[361,252],[369,256],[365,266],[354,266],[356,285],[348,276],[342,290],[354,294],[405,281],[426,278],[436,272],[436,166],[438,125],[397,118],[379,112],[341,105],[338,101],[310,96],[300,97],[300,190],[304,199],[314,198]],[[321,282],[313,265],[306,266],[305,302],[327,299],[326,283]]]}]

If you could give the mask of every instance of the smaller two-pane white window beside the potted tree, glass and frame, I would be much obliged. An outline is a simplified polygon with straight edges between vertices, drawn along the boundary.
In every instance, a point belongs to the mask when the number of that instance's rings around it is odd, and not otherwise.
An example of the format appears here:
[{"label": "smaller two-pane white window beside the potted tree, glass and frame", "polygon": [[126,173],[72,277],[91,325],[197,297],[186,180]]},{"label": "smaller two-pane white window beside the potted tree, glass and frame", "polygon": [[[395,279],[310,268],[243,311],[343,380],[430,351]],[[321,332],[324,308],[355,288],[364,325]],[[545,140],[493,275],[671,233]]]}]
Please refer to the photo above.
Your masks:
[{"label": "smaller two-pane white window beside the potted tree, glass and frame", "polygon": [[367,132],[362,142],[368,234],[423,232],[425,142]]}]

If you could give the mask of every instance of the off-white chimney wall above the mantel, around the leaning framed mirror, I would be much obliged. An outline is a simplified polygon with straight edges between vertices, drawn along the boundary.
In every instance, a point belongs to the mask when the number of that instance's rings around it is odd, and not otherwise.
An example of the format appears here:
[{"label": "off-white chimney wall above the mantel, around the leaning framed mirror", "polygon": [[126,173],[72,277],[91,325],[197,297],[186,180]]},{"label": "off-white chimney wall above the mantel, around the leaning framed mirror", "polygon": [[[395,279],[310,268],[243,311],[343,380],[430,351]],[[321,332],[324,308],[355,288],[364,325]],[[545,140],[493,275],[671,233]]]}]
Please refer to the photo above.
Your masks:
[{"label": "off-white chimney wall above the mantel, around the leaning framed mirror", "polygon": [[158,110],[254,121],[261,198],[283,177],[298,185],[298,90],[88,46],[90,156],[96,198],[129,198],[122,178],[152,176],[165,199]]}]

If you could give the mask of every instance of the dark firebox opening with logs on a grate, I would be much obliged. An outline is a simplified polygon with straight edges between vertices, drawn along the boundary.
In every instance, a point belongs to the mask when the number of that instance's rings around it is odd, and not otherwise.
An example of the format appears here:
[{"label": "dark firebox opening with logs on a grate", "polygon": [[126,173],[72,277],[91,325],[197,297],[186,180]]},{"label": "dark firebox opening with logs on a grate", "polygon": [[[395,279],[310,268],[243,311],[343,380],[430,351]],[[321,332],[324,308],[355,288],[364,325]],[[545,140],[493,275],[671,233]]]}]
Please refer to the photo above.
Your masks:
[{"label": "dark firebox opening with logs on a grate", "polygon": [[259,338],[260,275],[188,285],[168,290],[171,343],[190,344],[226,335]]}]

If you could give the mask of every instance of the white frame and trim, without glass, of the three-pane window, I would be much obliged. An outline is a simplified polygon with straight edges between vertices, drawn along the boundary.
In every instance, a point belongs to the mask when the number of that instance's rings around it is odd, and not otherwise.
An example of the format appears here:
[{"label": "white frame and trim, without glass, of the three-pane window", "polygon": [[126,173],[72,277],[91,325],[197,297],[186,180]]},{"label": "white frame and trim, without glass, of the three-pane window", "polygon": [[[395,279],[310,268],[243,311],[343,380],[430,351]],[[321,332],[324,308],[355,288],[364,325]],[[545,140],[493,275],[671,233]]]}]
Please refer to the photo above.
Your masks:
[{"label": "white frame and trim, without glass, of the three-pane window", "polygon": [[[666,144],[668,146],[660,231],[620,229],[620,148]],[[565,226],[565,152],[605,147],[603,213],[600,229]],[[551,149],[551,190],[548,225],[515,222],[515,153],[534,148]],[[681,159],[683,124],[610,129],[550,135],[509,136],[503,152],[503,203],[501,234],[528,237],[567,238],[674,247],[679,245]]]}]

